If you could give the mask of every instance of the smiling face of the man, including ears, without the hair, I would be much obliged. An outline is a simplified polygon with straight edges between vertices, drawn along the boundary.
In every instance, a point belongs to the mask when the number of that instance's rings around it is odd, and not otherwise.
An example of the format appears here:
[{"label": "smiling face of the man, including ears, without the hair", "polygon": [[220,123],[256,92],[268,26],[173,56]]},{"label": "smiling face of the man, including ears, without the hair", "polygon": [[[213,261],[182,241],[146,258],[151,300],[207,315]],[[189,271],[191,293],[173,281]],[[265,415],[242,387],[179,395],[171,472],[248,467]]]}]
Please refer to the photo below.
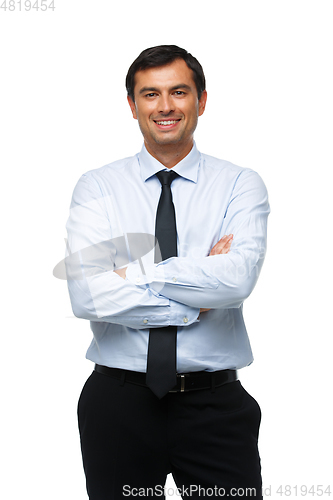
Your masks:
[{"label": "smiling face of the man, including ears, without the hair", "polygon": [[170,148],[190,151],[198,116],[207,94],[198,100],[192,70],[183,59],[135,74],[135,102],[128,97],[133,117],[139,121],[148,151]]}]

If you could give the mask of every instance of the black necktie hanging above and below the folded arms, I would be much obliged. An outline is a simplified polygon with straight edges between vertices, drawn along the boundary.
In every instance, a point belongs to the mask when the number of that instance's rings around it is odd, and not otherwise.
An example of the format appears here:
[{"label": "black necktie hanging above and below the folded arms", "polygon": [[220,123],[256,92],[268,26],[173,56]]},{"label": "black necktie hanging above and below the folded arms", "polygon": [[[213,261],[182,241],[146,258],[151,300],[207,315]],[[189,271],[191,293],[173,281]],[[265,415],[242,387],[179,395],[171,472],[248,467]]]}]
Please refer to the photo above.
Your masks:
[{"label": "black necktie hanging above and below the folded arms", "polygon": [[[155,247],[155,263],[177,256],[176,215],[171,183],[178,174],[162,170],[156,176],[162,184],[155,224],[155,236],[162,259]],[[165,396],[177,383],[176,340],[176,326],[152,328],[149,332],[146,383],[158,398]]]}]

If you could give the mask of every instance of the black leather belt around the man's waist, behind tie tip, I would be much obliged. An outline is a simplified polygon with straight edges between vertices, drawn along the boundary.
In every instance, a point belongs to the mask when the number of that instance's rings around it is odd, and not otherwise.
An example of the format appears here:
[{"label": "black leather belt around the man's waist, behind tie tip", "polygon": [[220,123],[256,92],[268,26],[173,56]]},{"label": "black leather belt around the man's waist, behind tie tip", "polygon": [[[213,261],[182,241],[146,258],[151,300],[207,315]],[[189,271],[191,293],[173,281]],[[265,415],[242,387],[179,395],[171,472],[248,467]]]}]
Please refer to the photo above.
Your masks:
[{"label": "black leather belt around the man's waist, behind tie tip", "polygon": [[[146,374],[142,372],[133,372],[130,370],[121,370],[119,368],[109,368],[107,366],[95,365],[95,371],[108,375],[130,384],[146,386]],[[169,392],[187,392],[198,391],[200,389],[214,389],[221,385],[235,382],[237,380],[236,370],[220,370],[216,372],[191,372],[177,373],[177,384]]]}]

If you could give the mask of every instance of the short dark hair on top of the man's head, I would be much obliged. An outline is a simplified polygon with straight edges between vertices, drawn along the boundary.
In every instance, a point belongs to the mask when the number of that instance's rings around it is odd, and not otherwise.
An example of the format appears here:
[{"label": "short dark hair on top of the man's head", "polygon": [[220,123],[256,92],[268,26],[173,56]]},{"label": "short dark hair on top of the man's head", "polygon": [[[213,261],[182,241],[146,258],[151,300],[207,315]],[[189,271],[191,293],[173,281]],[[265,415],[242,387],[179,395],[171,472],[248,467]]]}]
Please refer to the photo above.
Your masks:
[{"label": "short dark hair on top of the man's head", "polygon": [[157,68],[165,66],[176,59],[184,59],[187,66],[193,71],[193,79],[200,99],[202,92],[206,88],[205,75],[199,61],[185,49],[177,45],[158,45],[144,50],[131,64],[126,76],[127,94],[134,101],[134,77],[137,71],[147,68]]}]

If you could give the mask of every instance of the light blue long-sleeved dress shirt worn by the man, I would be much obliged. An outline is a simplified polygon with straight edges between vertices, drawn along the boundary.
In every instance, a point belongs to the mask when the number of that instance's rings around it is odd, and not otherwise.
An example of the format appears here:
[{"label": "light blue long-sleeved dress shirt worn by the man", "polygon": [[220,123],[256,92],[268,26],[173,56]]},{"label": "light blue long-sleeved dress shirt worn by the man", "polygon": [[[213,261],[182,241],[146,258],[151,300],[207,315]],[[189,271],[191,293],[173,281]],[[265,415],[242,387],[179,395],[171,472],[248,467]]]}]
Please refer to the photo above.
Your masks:
[{"label": "light blue long-sleeved dress shirt worn by the man", "polygon": [[[161,193],[154,174],[163,169],[143,146],[136,156],[87,172],[75,187],[68,248],[79,256],[82,277],[68,279],[68,287],[74,314],[90,320],[87,358],[145,372],[149,329],[177,325],[179,373],[242,368],[253,361],[242,304],[266,251],[265,185],[253,170],[201,154],[194,144],[173,168],[178,256],[154,264],[152,249],[133,260],[126,246],[124,280],[98,244],[154,235]],[[208,256],[226,234],[234,235],[229,253]],[[99,250],[87,258],[92,248]],[[200,308],[211,310],[199,316]]]}]

